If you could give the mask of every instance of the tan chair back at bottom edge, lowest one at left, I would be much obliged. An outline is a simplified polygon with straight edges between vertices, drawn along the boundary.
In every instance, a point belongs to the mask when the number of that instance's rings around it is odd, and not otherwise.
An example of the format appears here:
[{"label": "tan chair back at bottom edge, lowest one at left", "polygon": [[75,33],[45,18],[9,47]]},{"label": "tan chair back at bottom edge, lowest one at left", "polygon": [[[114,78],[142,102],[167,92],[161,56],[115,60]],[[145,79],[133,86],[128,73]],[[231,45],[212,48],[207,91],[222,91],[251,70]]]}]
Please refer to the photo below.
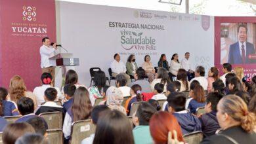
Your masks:
[{"label": "tan chair back at bottom edge, lowest one at left", "polygon": [[53,129],[53,130],[47,130],[47,137],[49,143],[54,144],[62,144],[63,143],[63,133],[61,129]]}]

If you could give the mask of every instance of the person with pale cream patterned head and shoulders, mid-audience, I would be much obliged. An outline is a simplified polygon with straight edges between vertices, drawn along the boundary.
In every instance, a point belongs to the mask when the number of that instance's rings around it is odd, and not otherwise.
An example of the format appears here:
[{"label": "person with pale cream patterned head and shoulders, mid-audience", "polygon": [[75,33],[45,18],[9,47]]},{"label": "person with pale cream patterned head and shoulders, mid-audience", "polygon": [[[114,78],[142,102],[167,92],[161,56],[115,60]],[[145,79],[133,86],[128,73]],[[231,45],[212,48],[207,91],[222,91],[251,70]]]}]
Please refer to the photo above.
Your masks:
[{"label": "person with pale cream patterned head and shoulders, mid-audience", "polygon": [[123,107],[121,104],[123,103],[123,93],[119,88],[116,88],[115,86],[110,86],[108,90],[106,91],[106,105],[110,109],[117,109],[118,111],[121,111],[124,115],[126,115],[125,107]]}]

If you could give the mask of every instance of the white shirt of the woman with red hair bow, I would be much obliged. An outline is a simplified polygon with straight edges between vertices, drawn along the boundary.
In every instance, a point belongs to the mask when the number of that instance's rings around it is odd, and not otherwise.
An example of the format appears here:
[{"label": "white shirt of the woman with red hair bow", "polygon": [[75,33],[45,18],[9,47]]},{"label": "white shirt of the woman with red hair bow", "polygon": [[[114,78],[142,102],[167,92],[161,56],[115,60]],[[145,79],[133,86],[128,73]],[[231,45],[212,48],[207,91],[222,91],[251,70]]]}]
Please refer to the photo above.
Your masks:
[{"label": "white shirt of the woman with red hair bow", "polygon": [[63,98],[59,88],[52,87],[50,84],[43,84],[42,86],[37,86],[33,89],[33,94],[35,94],[37,98],[37,105],[41,105],[41,103],[45,102],[44,96],[45,96],[45,90],[47,88],[55,88],[57,90],[58,93],[57,93],[56,100]]}]

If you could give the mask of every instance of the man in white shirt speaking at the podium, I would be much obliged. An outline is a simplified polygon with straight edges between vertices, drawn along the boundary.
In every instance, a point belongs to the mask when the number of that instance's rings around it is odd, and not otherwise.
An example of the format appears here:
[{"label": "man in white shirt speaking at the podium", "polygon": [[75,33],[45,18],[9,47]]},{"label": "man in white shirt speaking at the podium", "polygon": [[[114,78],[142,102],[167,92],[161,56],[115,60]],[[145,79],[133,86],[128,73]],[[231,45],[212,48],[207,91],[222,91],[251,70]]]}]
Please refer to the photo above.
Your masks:
[{"label": "man in white shirt speaking at the podium", "polygon": [[56,46],[50,46],[51,42],[49,37],[44,37],[42,39],[43,45],[40,47],[40,55],[41,55],[41,69],[42,73],[51,73],[53,77],[53,86],[55,81],[55,61],[49,60],[51,56],[54,56],[54,50],[56,50]]}]

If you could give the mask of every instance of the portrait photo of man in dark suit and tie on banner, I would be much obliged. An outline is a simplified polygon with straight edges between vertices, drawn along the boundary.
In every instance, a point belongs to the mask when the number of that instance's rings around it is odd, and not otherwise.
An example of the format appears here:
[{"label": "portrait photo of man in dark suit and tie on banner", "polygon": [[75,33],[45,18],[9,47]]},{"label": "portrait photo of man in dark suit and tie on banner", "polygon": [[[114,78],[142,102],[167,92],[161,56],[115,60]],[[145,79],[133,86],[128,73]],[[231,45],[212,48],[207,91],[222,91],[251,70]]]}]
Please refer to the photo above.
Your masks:
[{"label": "portrait photo of man in dark suit and tie on banner", "polygon": [[256,23],[221,23],[221,63],[256,63]]}]

